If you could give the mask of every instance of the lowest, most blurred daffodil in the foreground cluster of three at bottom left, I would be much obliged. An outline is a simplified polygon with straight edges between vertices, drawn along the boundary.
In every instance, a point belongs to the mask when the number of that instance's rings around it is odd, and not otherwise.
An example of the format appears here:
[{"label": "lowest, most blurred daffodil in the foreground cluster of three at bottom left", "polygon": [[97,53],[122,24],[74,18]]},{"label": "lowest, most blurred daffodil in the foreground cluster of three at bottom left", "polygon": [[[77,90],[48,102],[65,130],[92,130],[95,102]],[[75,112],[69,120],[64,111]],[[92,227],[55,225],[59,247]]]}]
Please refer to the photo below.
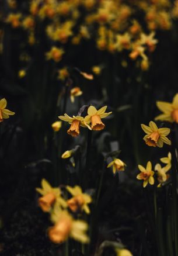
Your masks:
[{"label": "lowest, most blurred daffodil in the foreground cluster of three at bottom left", "polygon": [[53,243],[63,243],[68,237],[74,238],[81,243],[88,243],[86,235],[88,224],[83,220],[74,220],[65,210],[55,208],[51,220],[54,226],[48,229],[48,237]]}]

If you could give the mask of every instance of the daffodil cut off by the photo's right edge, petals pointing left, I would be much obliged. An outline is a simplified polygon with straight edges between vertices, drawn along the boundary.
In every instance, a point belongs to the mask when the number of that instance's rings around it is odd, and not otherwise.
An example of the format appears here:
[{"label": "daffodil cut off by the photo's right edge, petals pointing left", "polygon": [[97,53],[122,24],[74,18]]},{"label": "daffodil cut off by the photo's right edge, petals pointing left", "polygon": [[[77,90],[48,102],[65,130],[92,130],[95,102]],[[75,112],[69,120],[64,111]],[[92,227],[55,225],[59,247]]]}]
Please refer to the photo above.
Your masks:
[{"label": "daffodil cut off by the photo's right edge, petals pointing left", "polygon": [[163,113],[155,117],[155,120],[178,123],[178,94],[173,98],[172,103],[157,101],[156,105]]}]

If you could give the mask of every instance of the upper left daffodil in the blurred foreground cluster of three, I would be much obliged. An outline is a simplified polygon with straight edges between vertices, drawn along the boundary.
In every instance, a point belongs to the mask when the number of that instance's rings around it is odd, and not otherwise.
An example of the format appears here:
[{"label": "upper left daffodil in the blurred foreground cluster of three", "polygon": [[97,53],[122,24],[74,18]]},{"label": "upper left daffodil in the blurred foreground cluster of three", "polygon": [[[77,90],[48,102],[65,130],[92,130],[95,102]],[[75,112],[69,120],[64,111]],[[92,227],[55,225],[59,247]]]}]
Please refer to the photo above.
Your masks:
[{"label": "upper left daffodil in the blurred foreground cluster of three", "polygon": [[39,206],[43,212],[50,212],[52,206],[67,207],[67,203],[61,197],[60,188],[53,188],[46,179],[42,179],[41,188],[36,188],[42,196],[39,198]]}]

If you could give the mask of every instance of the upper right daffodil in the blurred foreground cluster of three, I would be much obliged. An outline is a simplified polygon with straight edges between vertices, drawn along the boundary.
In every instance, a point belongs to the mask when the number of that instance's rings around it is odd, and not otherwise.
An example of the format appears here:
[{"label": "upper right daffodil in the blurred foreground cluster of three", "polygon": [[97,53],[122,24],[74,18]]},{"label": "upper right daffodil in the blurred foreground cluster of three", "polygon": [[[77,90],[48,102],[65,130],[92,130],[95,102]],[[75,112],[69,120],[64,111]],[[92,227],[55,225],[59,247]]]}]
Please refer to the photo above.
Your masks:
[{"label": "upper right daffodil in the blurred foreground cluster of three", "polygon": [[82,193],[82,189],[79,186],[71,186],[66,187],[68,192],[71,193],[73,198],[67,201],[69,208],[72,212],[77,212],[78,210],[84,210],[87,214],[90,213],[90,209],[88,207],[88,203],[92,202],[92,198],[86,194]]}]

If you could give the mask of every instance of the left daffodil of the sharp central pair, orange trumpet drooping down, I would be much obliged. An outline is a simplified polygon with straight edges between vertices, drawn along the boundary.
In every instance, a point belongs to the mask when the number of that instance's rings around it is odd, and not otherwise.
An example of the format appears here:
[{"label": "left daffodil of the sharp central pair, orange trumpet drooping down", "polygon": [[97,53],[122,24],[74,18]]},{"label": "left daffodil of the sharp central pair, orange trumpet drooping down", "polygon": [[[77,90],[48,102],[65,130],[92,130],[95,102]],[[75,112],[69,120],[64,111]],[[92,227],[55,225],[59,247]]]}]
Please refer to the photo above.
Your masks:
[{"label": "left daffodil of the sharp central pair, orange trumpet drooping down", "polygon": [[79,126],[82,127],[88,127],[90,130],[90,126],[88,125],[87,122],[84,123],[84,118],[82,116],[73,116],[70,117],[67,114],[64,114],[64,116],[58,116],[59,119],[62,121],[68,122],[71,124],[71,127],[68,129],[67,133],[70,134],[72,137],[76,137],[79,135]]}]

